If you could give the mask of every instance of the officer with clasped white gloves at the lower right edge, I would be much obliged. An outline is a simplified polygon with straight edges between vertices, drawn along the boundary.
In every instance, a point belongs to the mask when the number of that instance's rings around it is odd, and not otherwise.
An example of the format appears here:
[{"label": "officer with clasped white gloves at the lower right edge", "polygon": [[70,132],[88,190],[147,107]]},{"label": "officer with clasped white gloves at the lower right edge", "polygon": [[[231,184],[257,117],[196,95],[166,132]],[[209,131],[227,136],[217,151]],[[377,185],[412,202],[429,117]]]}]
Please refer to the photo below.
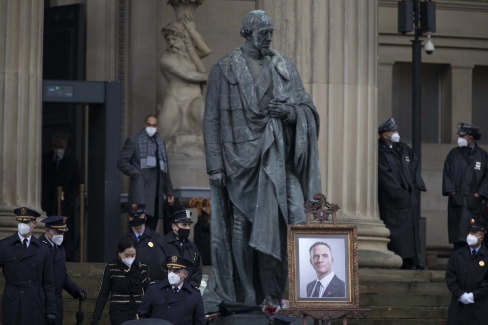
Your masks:
[{"label": "officer with clasped white gloves at the lower right edge", "polygon": [[449,258],[446,283],[452,299],[448,324],[488,324],[488,251],[483,244],[486,230],[484,221],[469,220],[468,246],[457,249]]}]

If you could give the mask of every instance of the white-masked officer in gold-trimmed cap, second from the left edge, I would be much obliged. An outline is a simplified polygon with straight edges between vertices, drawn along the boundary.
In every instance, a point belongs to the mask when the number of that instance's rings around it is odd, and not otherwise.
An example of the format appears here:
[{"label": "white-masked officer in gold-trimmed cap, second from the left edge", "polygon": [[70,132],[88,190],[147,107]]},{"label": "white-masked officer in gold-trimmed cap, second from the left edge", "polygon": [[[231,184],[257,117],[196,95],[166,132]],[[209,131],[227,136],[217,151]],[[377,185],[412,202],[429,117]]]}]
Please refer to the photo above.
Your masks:
[{"label": "white-masked officer in gold-trimmed cap, second from the left edge", "polygon": [[53,215],[41,220],[46,225],[46,232],[39,237],[39,240],[47,245],[51,253],[56,290],[56,325],[63,325],[63,289],[75,299],[86,299],[85,290],[74,283],[66,273],[66,251],[61,243],[64,234],[68,231],[67,219],[68,217]]}]

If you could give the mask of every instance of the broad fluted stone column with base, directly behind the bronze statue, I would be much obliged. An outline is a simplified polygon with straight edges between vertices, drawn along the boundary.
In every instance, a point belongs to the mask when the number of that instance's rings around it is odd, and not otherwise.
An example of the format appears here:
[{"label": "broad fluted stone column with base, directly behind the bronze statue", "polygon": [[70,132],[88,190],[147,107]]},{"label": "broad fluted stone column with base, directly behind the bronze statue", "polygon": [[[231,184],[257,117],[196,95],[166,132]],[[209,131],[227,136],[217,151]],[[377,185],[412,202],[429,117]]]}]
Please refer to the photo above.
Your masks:
[{"label": "broad fluted stone column with base, directly behind the bronze statue", "polygon": [[257,0],[320,115],[323,193],[358,226],[359,266],[399,268],[377,204],[377,0]]}]

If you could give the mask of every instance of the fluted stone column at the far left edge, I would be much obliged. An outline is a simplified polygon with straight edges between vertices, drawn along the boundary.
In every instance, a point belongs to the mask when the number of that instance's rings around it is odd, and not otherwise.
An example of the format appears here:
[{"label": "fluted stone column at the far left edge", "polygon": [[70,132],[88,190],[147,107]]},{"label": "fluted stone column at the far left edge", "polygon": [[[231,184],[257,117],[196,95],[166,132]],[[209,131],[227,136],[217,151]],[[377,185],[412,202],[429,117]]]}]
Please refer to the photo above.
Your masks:
[{"label": "fluted stone column at the far left edge", "polygon": [[0,236],[12,210],[41,212],[43,0],[0,2]]}]

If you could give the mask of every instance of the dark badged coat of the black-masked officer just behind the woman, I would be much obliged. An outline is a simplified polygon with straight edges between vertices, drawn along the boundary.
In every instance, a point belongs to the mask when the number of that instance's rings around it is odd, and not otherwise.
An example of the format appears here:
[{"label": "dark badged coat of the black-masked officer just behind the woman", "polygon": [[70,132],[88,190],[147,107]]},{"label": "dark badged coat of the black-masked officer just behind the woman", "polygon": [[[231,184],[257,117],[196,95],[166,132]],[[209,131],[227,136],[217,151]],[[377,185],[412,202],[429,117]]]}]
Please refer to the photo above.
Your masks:
[{"label": "dark badged coat of the black-masked officer just behind the woman", "polygon": [[150,281],[166,276],[161,273],[162,271],[160,271],[159,268],[150,267],[151,263],[159,265],[160,256],[158,254],[157,242],[160,240],[160,234],[149,229],[149,227],[146,225],[144,234],[139,237],[139,241],[137,241],[132,228],[127,232],[127,234],[124,235],[124,237],[129,237],[134,241],[134,243],[136,243],[137,260],[147,266]]}]

